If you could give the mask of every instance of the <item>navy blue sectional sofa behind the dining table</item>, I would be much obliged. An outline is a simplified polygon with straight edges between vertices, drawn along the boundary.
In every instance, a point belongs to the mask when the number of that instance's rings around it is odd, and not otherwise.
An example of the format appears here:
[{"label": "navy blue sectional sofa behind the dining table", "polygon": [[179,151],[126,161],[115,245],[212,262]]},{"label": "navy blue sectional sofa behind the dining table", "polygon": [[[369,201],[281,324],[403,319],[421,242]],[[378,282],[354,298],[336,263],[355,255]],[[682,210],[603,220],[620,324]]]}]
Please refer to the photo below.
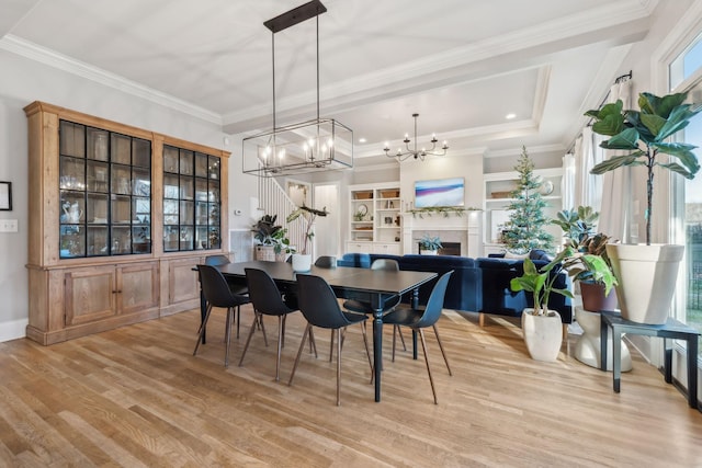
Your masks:
[{"label": "navy blue sectional sofa behind the dining table", "polygon": [[[533,307],[533,296],[529,293],[514,293],[509,283],[523,273],[523,260],[480,258],[471,259],[454,255],[383,255],[369,253],[346,253],[338,260],[339,266],[370,267],[375,259],[395,259],[400,270],[435,272],[441,276],[451,270],[454,274],[446,288],[444,307],[446,309],[480,312],[479,322],[484,324],[485,313],[519,317],[522,310]],[[541,251],[530,254],[536,267],[548,263],[548,258]],[[427,304],[434,282],[423,285],[419,290],[419,303]],[[556,287],[568,288],[570,281],[565,273],[558,273]],[[409,301],[409,298],[404,298]],[[557,310],[564,323],[573,322],[570,299],[553,294],[548,308]]]}]

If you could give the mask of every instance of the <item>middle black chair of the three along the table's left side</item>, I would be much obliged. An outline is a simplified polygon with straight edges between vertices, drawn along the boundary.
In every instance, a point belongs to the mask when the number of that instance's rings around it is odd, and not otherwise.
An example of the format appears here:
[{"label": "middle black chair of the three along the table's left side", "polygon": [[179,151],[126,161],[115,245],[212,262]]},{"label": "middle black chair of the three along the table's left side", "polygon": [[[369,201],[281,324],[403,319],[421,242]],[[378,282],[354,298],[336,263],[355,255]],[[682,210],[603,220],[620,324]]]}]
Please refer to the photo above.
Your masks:
[{"label": "middle black chair of the three along the table's left side", "polygon": [[[281,351],[285,341],[285,319],[288,313],[297,311],[292,309],[284,301],[281,296],[275,282],[263,270],[258,269],[245,269],[246,282],[249,286],[249,298],[253,306],[253,323],[251,323],[251,330],[249,336],[246,340],[241,358],[239,359],[239,366],[244,363],[246,352],[249,349],[251,336],[256,331],[256,327],[260,324],[263,330],[263,339],[265,340],[265,328],[263,327],[262,316],[278,317],[278,354],[275,357],[275,380],[280,380],[281,372]],[[314,336],[310,338],[310,344],[314,344]],[[268,341],[265,340],[268,346]]]}]

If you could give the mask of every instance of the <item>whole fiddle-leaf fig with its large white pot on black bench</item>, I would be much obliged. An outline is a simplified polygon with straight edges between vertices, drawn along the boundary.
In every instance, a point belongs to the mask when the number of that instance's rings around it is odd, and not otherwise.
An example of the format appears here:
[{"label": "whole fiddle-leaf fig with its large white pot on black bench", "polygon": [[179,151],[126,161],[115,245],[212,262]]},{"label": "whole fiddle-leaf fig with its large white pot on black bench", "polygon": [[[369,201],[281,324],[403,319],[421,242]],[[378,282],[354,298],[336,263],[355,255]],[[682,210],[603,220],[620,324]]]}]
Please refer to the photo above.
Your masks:
[{"label": "whole fiddle-leaf fig with its large white pot on black bench", "polygon": [[[597,164],[590,171],[603,174],[622,167],[646,169],[646,244],[608,244],[622,317],[641,323],[665,323],[678,276],[683,246],[650,243],[653,219],[654,169],[667,169],[687,179],[700,170],[694,145],[668,139],[688,126],[702,107],[684,104],[687,93],[657,96],[641,93],[639,110],[624,110],[622,101],[586,113],[595,119],[592,130],[610,137],[600,144],[604,149],[626,151]],[[664,155],[667,158],[664,158]]]}]

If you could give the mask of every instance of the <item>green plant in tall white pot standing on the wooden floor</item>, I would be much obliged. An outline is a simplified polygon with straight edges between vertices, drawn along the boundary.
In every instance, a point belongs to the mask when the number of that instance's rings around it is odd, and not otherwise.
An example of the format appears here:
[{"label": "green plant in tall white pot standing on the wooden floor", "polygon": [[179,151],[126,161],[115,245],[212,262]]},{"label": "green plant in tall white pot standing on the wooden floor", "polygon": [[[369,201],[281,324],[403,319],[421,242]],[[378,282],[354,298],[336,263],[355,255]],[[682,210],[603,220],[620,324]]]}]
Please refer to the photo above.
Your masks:
[{"label": "green plant in tall white pot standing on the wooden floor", "polygon": [[573,297],[568,289],[554,287],[562,262],[567,255],[561,252],[552,262],[536,269],[534,262],[524,259],[524,273],[510,281],[514,292],[525,290],[534,296],[534,307],[522,311],[522,333],[529,355],[535,361],[553,362],[558,357],[563,342],[563,321],[556,310],[548,309],[551,294]]}]

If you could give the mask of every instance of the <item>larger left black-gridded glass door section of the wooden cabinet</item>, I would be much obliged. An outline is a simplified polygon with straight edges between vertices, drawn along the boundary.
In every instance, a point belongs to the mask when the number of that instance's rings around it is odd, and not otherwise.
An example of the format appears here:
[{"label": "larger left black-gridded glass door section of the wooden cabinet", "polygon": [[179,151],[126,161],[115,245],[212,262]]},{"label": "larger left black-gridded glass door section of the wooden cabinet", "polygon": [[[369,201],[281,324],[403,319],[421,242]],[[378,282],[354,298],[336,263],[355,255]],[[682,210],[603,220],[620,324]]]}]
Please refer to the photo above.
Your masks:
[{"label": "larger left black-gridded glass door section of the wooden cabinet", "polygon": [[61,121],[61,259],[151,251],[151,144]]}]

